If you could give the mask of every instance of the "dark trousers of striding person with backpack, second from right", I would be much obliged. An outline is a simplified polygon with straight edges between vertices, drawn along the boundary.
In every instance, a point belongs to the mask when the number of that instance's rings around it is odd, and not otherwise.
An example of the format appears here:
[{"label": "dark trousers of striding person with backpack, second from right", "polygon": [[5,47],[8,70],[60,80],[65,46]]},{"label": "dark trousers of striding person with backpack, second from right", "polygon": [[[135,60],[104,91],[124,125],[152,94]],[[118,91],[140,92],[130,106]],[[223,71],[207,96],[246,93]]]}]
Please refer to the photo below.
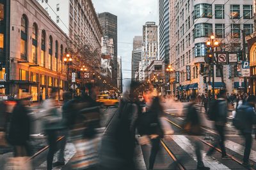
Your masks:
[{"label": "dark trousers of striding person with backpack, second from right", "polygon": [[216,138],[216,142],[214,143],[214,148],[211,148],[208,152],[209,155],[212,155],[212,153],[215,151],[215,148],[220,145],[220,149],[221,149],[221,155],[226,156],[226,148],[224,145],[225,142],[225,126],[222,125],[215,125],[215,129],[218,132],[219,136]]}]

